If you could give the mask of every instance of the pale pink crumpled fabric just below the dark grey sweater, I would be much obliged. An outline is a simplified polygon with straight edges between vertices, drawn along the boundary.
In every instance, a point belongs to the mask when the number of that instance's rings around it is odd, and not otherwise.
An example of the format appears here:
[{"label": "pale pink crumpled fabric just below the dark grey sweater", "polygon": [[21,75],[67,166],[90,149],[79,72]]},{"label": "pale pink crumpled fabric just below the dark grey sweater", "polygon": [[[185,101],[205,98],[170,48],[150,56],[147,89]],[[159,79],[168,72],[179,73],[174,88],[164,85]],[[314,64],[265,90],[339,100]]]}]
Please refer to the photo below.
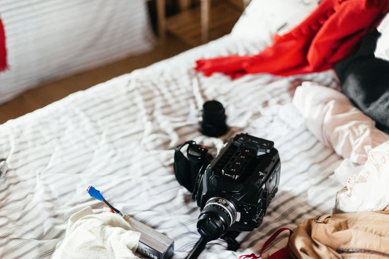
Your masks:
[{"label": "pale pink crumpled fabric just below the dark grey sweater", "polygon": [[375,127],[375,121],[332,88],[303,82],[292,103],[320,142],[353,163],[363,165],[371,149],[389,140],[388,134]]}]

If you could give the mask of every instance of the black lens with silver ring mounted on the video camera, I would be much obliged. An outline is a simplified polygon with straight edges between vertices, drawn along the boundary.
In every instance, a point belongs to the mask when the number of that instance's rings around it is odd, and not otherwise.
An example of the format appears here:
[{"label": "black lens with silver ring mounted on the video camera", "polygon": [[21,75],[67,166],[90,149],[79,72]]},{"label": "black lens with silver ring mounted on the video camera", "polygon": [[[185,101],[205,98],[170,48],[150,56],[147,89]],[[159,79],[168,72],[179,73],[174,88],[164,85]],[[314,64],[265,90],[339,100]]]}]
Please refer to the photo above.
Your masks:
[{"label": "black lens with silver ring mounted on the video camera", "polygon": [[206,202],[198,217],[198,233],[208,240],[218,239],[235,222],[236,215],[236,209],[230,201],[212,197]]}]

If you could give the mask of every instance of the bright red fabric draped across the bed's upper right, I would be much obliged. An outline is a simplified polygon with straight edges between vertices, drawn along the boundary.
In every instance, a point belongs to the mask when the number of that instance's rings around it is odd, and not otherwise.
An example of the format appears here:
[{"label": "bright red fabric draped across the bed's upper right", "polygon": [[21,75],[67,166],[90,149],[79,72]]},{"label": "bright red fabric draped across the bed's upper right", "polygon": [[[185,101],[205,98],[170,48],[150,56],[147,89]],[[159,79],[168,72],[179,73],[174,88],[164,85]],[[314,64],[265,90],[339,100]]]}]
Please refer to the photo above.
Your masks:
[{"label": "bright red fabric draped across the bed's upper right", "polygon": [[297,27],[256,56],[196,61],[195,70],[232,78],[247,73],[294,75],[320,72],[349,57],[371,26],[389,11],[388,0],[323,0]]}]

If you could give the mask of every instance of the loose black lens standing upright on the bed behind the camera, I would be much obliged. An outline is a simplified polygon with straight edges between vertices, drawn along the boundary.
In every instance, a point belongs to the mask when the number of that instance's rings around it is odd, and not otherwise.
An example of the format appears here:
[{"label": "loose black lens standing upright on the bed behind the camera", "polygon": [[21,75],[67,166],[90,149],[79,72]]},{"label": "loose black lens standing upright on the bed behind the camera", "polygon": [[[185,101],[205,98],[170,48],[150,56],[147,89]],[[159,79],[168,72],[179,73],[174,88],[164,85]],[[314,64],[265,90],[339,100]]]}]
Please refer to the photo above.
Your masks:
[{"label": "loose black lens standing upright on the bed behind the camera", "polygon": [[221,136],[227,132],[225,110],[221,103],[212,100],[202,106],[200,131],[207,136]]}]

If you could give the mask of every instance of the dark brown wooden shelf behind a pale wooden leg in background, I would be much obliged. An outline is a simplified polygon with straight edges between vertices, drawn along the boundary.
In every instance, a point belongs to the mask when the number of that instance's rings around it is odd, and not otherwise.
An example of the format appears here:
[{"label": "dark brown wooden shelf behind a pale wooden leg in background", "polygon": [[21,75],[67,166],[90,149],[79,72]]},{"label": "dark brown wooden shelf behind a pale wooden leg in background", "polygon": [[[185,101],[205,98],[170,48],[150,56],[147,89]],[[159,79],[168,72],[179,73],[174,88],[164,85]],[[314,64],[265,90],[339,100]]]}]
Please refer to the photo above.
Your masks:
[{"label": "dark brown wooden shelf behind a pale wooden leg in background", "polygon": [[[231,32],[242,10],[225,1],[214,1],[210,8],[209,40],[218,39]],[[169,17],[166,21],[167,31],[190,46],[201,45],[200,7],[188,9]]]}]

